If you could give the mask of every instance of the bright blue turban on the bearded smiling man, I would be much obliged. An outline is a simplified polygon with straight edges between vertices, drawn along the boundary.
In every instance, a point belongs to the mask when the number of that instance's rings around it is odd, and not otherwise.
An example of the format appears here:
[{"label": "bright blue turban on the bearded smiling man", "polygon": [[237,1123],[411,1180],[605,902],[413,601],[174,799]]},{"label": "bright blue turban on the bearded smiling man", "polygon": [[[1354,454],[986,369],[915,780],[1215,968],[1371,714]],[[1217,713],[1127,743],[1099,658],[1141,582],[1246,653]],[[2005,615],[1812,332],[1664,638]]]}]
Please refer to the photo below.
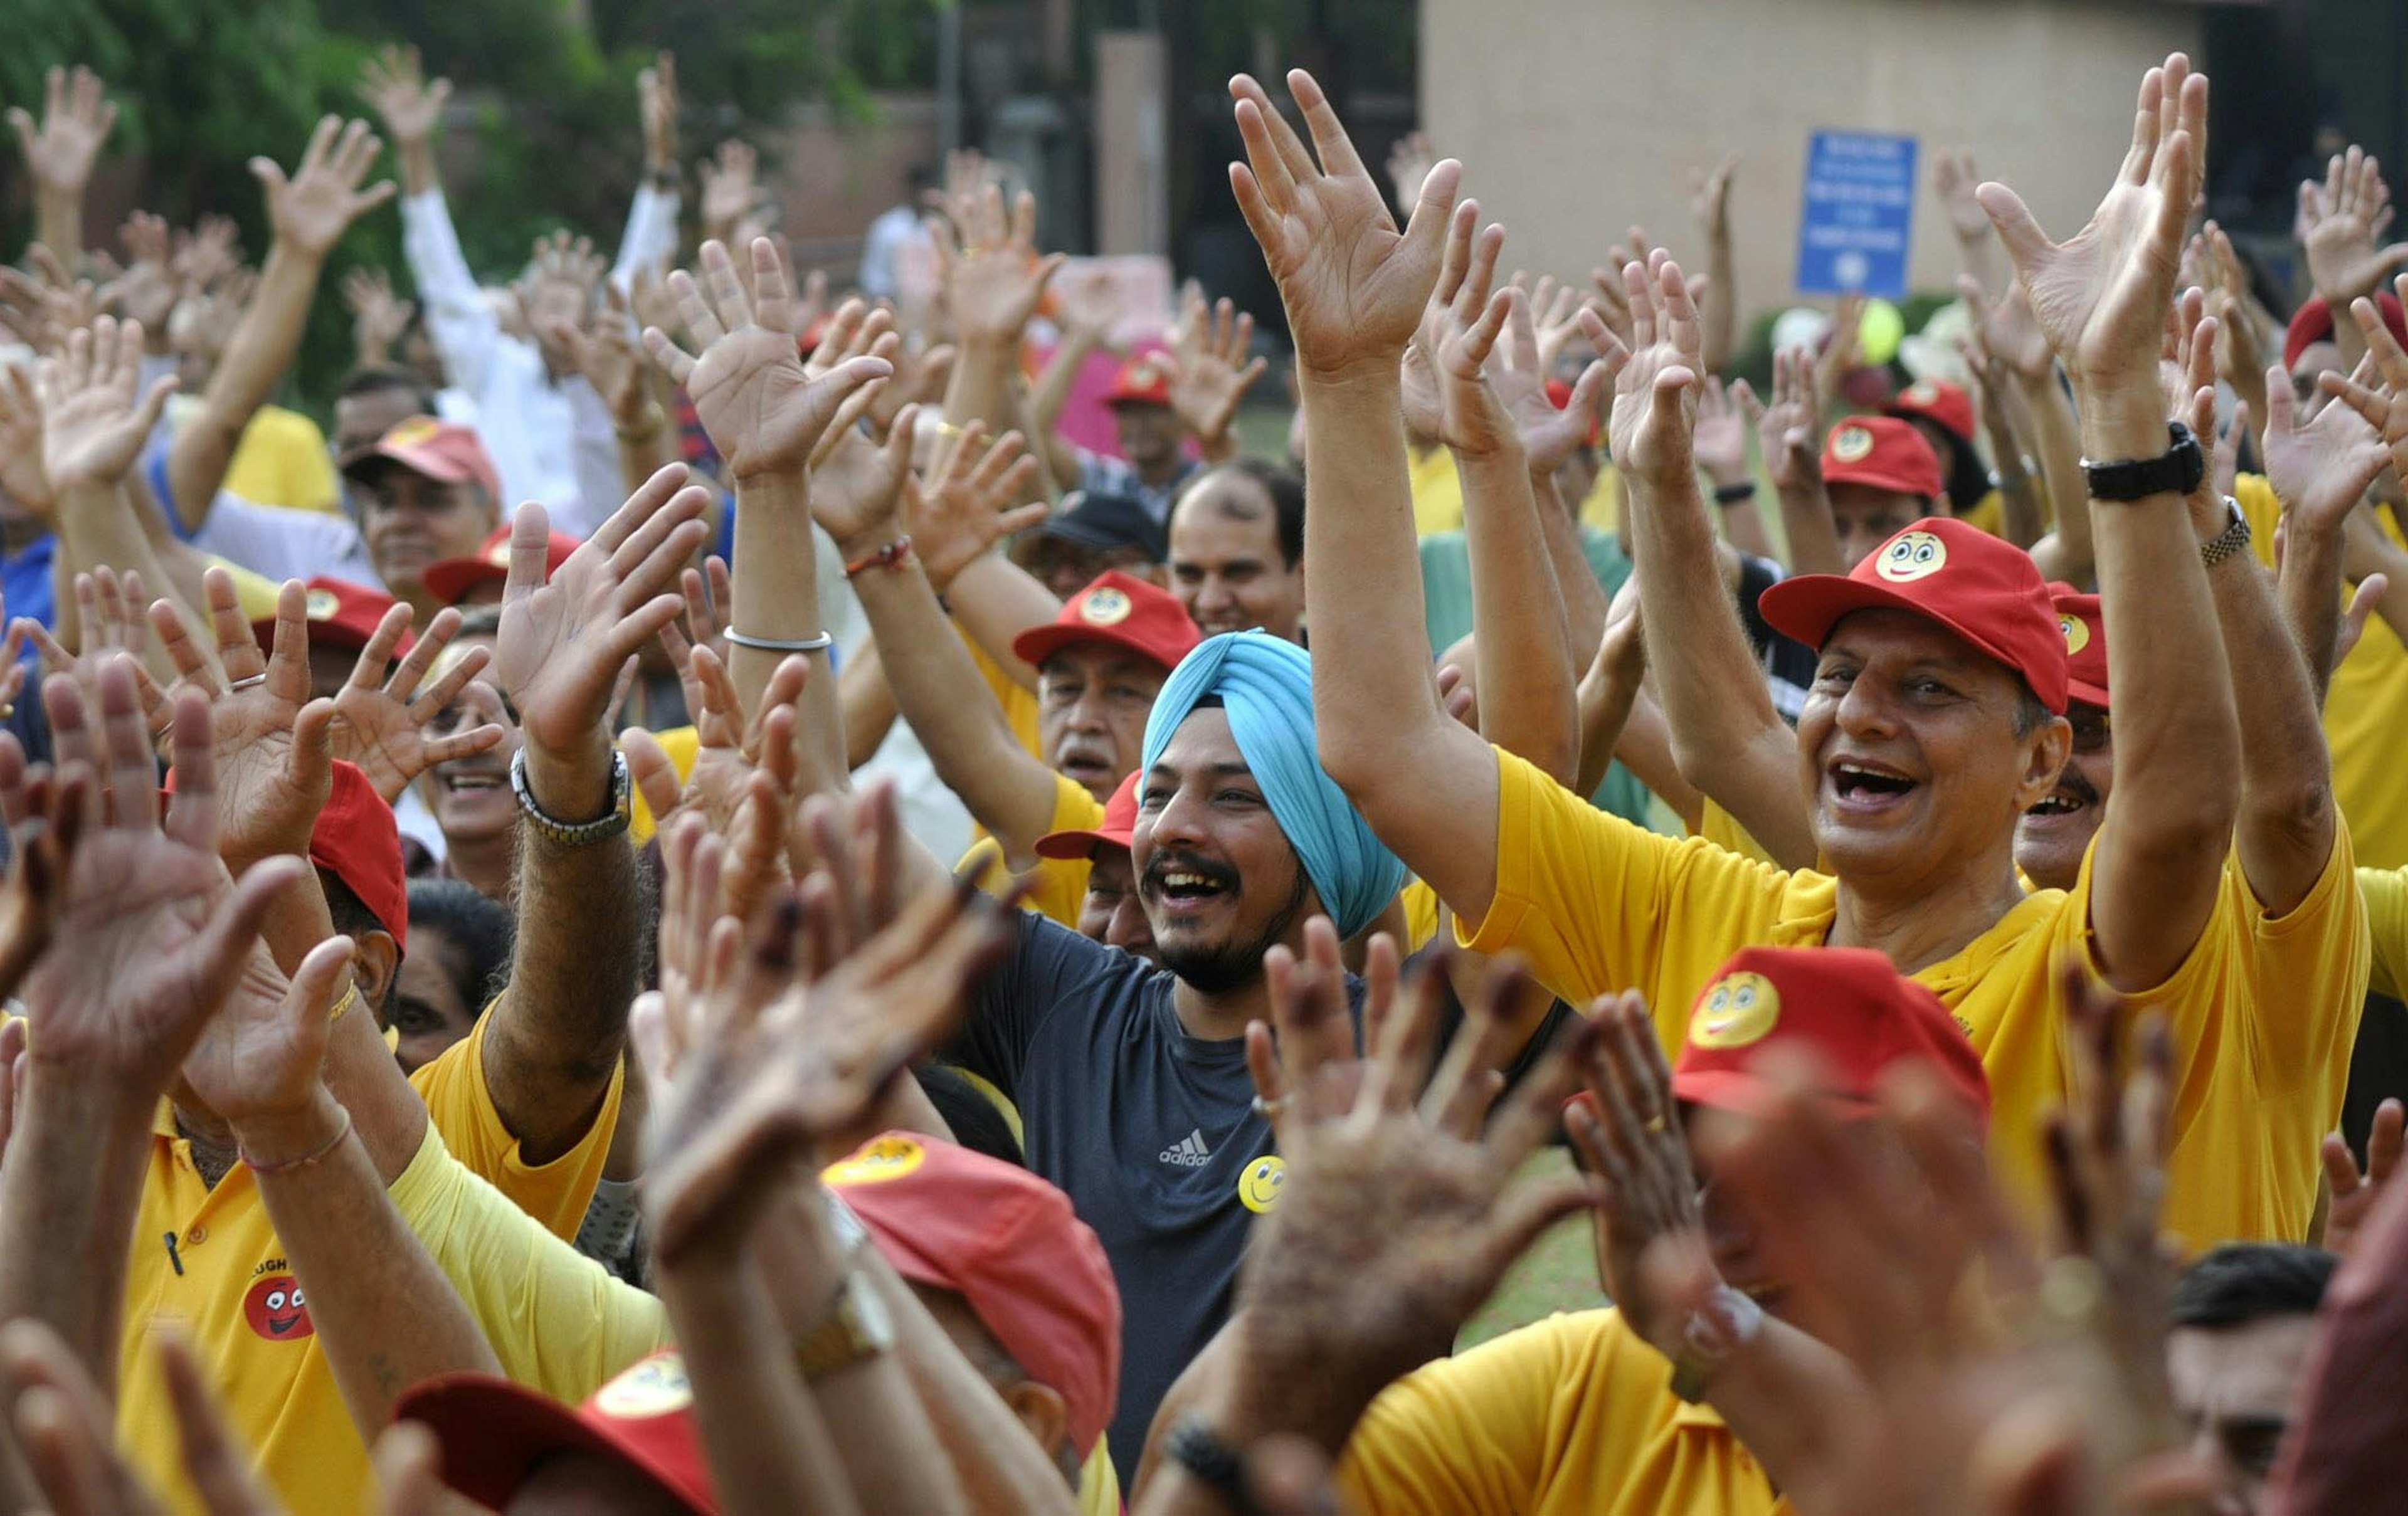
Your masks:
[{"label": "bright blue turban on the bearded smiling man", "polygon": [[1144,768],[1153,768],[1180,722],[1214,695],[1339,936],[1377,922],[1404,888],[1404,859],[1370,835],[1363,813],[1322,772],[1312,748],[1312,657],[1259,630],[1204,638],[1153,698]]}]

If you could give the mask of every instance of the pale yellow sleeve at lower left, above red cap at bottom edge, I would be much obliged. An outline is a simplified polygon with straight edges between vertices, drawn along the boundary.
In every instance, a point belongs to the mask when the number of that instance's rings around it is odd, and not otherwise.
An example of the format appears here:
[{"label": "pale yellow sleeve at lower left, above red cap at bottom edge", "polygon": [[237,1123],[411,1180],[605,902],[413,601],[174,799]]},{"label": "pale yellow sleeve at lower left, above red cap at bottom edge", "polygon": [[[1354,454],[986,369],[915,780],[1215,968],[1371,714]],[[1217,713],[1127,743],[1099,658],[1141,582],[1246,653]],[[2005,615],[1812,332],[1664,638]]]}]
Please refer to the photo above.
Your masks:
[{"label": "pale yellow sleeve at lower left, above red cap at bottom edge", "polygon": [[513,1381],[578,1405],[669,1345],[657,1299],[612,1278],[472,1174],[433,1124],[388,1194]]}]

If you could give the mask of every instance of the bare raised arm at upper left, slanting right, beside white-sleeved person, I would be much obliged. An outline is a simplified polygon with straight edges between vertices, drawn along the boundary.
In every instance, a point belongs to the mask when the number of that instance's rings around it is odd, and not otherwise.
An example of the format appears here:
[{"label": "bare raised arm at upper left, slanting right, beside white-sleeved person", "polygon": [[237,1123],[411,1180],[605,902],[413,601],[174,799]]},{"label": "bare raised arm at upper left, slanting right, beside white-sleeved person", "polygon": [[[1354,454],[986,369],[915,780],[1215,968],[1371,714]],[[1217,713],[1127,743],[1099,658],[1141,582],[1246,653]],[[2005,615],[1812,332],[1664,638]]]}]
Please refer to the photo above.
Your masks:
[{"label": "bare raised arm at upper left, slanting right, beside white-sleeved person", "polygon": [[383,142],[368,132],[368,123],[344,125],[342,118],[327,116],[289,180],[272,159],[250,159],[250,173],[267,193],[275,243],[267,248],[250,308],[236,322],[217,371],[209,373],[209,387],[200,395],[200,411],[183,424],[166,455],[169,493],[176,496],[171,505],[185,529],[200,529],[209,517],[209,501],[226,479],[234,445],[243,440],[250,416],[277,392],[284,371],[301,351],[301,330],[308,325],[308,306],[318,296],[327,253],[352,221],[393,197],[390,180],[359,188],[380,149]]}]

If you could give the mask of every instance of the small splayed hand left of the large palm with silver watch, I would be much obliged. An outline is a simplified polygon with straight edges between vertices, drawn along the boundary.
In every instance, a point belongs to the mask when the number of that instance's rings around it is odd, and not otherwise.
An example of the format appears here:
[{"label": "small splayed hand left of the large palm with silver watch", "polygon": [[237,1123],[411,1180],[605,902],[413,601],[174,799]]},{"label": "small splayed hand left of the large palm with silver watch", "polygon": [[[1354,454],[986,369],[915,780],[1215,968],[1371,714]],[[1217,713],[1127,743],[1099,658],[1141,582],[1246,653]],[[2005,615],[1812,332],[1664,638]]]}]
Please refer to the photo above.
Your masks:
[{"label": "small splayed hand left of the large palm with silver watch", "polygon": [[[433,732],[433,719],[494,659],[486,647],[467,647],[460,657],[443,659],[453,638],[460,635],[460,611],[453,606],[436,611],[436,618],[426,623],[426,635],[409,647],[409,657],[388,679],[393,650],[400,647],[407,630],[409,606],[395,604],[376,623],[368,645],[359,650],[352,676],[335,691],[335,758],[359,768],[388,806],[400,804],[402,792],[433,765],[470,758],[501,744],[501,727],[491,722],[465,732]],[[419,686],[438,662],[443,674],[421,691]]]}]

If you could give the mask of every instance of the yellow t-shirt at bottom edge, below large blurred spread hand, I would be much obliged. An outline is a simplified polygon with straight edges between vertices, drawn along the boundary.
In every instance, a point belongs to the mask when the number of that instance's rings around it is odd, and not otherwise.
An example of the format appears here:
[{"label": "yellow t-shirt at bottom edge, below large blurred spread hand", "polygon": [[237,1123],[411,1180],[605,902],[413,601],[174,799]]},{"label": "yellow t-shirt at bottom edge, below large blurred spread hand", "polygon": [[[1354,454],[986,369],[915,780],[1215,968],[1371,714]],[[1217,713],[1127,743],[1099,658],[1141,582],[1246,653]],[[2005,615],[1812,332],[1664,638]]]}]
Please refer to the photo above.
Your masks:
[{"label": "yellow t-shirt at bottom edge, below large blurred spread hand", "polygon": [[1339,1456],[1361,1516],[1775,1516],[1755,1456],[1621,1311],[1548,1316],[1380,1391]]}]

